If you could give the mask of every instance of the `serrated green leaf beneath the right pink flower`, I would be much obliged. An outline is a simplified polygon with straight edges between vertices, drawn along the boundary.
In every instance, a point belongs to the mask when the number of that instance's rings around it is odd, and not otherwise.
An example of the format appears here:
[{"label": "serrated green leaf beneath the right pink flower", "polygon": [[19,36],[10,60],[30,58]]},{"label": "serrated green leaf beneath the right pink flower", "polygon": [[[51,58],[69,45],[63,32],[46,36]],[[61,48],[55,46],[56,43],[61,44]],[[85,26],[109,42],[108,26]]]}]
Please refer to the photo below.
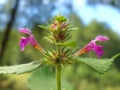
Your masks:
[{"label": "serrated green leaf beneath the right pink flower", "polygon": [[110,69],[113,59],[94,59],[94,58],[76,58],[78,61],[83,62],[100,74],[105,73]]}]

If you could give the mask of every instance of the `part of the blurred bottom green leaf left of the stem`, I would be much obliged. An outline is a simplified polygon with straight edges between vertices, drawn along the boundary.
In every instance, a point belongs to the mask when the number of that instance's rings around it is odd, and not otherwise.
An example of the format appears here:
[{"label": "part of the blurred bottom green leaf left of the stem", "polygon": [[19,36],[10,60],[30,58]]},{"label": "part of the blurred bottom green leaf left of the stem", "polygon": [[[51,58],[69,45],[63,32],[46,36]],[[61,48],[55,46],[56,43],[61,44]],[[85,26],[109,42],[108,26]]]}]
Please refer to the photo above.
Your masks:
[{"label": "part of the blurred bottom green leaf left of the stem", "polygon": [[55,86],[55,79],[50,72],[50,67],[44,66],[36,69],[28,80],[30,90],[55,90]]}]

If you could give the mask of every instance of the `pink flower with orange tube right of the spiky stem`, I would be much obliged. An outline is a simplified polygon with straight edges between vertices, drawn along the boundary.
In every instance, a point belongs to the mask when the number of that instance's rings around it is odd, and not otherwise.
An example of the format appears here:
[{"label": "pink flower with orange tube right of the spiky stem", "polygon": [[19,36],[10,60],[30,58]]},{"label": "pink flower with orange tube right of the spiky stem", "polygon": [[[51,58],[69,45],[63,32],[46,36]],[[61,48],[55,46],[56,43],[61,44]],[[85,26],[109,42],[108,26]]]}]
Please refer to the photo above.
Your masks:
[{"label": "pink flower with orange tube right of the spiky stem", "polygon": [[85,47],[83,47],[79,51],[77,51],[74,54],[74,56],[78,56],[78,55],[81,55],[83,53],[90,52],[93,50],[97,54],[98,58],[100,58],[104,54],[103,46],[97,45],[96,41],[105,42],[108,40],[109,40],[109,38],[102,36],[102,35],[99,35],[94,40],[91,40],[91,42],[88,43]]}]

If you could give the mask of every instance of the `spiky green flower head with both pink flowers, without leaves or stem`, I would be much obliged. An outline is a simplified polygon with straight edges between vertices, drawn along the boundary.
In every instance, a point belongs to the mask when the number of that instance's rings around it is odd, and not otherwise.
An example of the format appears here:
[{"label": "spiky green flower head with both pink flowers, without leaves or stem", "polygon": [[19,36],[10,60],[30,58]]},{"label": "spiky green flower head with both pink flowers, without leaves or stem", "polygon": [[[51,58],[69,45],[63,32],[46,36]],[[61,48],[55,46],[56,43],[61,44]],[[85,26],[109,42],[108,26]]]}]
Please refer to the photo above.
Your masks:
[{"label": "spiky green flower head with both pink flowers, without leaves or stem", "polygon": [[102,35],[98,35],[94,40],[91,40],[83,48],[71,54],[71,48],[68,48],[65,44],[63,44],[67,43],[70,39],[70,36],[68,35],[68,32],[71,29],[70,26],[71,24],[67,21],[65,17],[55,16],[53,22],[50,23],[48,28],[46,28],[50,32],[50,34],[46,38],[49,39],[49,41],[56,47],[56,49],[54,48],[52,51],[45,51],[37,42],[34,35],[29,29],[20,28],[19,32],[27,35],[27,37],[21,38],[19,42],[20,49],[21,51],[23,51],[27,44],[31,44],[34,48],[42,52],[48,61],[52,62],[53,64],[62,65],[70,63],[72,57],[76,57],[90,51],[94,51],[97,54],[98,58],[100,58],[104,54],[103,46],[96,44],[97,41],[105,42],[109,40],[108,37]]}]

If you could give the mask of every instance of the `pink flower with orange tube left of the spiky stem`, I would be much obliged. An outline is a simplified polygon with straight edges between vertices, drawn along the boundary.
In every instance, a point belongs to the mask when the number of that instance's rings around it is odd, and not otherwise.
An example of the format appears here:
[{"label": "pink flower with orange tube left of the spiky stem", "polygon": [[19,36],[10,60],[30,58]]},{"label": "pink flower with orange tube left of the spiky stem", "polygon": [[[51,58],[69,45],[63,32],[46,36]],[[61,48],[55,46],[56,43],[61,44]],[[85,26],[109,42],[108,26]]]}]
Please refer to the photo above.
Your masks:
[{"label": "pink flower with orange tube left of the spiky stem", "polygon": [[27,34],[28,37],[21,37],[19,45],[20,45],[20,50],[24,51],[25,47],[28,44],[31,44],[34,48],[38,49],[41,52],[44,52],[43,48],[39,45],[37,40],[35,39],[34,35],[31,34],[31,31],[27,28],[20,28],[19,32],[23,34]]}]

